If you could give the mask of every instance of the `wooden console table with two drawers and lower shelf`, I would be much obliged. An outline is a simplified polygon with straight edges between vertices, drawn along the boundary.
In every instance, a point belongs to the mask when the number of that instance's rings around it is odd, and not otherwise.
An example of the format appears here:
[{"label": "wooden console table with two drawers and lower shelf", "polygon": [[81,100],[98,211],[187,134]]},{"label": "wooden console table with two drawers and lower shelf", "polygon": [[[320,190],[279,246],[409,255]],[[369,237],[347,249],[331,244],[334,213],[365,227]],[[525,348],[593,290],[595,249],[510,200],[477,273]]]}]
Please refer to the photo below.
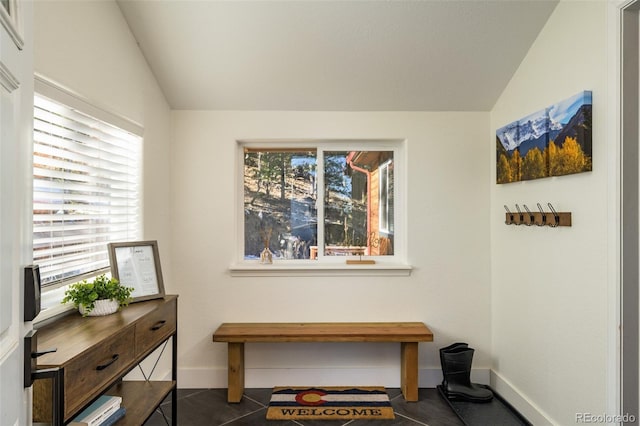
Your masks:
[{"label": "wooden console table with two drawers and lower shelf", "polygon": [[[122,397],[125,416],[118,426],[141,425],[171,393],[177,424],[178,296],[133,303],[120,312],[83,318],[72,313],[37,329],[38,369],[59,369],[59,381],[33,383],[33,421],[68,423],[102,394]],[[123,381],[151,352],[172,338],[172,380]],[[150,377],[149,377],[150,379]],[[60,395],[53,397],[52,395]]]}]

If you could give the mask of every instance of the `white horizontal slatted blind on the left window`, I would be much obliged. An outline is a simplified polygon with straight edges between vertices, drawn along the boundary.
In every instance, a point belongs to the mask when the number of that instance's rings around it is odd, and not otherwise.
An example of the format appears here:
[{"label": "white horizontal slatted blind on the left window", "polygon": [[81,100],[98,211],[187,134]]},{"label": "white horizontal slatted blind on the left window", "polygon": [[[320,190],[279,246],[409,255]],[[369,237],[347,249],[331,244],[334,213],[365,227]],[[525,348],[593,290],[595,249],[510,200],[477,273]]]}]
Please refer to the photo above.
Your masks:
[{"label": "white horizontal slatted blind on the left window", "polygon": [[33,261],[43,285],[109,267],[107,243],[140,237],[142,139],[34,99]]}]

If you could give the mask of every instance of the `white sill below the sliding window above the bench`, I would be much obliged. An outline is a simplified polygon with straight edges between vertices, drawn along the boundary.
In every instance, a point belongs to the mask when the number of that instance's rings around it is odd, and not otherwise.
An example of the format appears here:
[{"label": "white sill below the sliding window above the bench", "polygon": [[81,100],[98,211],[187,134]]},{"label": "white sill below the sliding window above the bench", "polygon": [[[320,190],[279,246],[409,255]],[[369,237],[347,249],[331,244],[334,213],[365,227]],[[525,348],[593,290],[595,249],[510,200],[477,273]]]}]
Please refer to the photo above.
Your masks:
[{"label": "white sill below the sliding window above the bench", "polygon": [[408,277],[413,268],[410,265],[401,264],[375,264],[375,265],[292,265],[292,264],[260,264],[242,263],[229,267],[232,277]]}]

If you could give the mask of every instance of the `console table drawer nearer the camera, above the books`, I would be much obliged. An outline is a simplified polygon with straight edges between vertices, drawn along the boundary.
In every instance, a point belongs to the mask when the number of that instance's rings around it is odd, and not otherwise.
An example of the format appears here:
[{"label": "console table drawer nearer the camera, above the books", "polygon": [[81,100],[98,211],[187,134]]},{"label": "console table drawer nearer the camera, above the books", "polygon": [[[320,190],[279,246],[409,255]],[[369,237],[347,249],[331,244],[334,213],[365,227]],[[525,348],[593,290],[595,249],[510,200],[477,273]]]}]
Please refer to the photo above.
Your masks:
[{"label": "console table drawer nearer the camera, above the books", "polygon": [[84,352],[64,371],[65,419],[98,396],[109,383],[134,362],[133,327],[128,327]]}]

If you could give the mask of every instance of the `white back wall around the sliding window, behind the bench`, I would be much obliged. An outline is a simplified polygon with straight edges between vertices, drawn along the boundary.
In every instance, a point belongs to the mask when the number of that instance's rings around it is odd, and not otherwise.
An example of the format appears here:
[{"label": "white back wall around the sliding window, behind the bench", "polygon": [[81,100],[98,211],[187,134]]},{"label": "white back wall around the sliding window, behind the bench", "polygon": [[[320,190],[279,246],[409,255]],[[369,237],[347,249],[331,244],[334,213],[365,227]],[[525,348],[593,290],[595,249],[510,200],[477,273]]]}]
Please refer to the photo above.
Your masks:
[{"label": "white back wall around the sliding window, behind the bench", "polygon": [[[437,348],[454,340],[476,347],[474,367],[487,371],[488,113],[172,114],[180,387],[226,387],[226,344],[211,340],[233,321],[424,321],[435,342],[420,347],[421,386],[441,380]],[[406,138],[411,276],[231,277],[235,141],[264,138]],[[253,344],[246,357],[248,387],[399,386],[396,344]]]}]

